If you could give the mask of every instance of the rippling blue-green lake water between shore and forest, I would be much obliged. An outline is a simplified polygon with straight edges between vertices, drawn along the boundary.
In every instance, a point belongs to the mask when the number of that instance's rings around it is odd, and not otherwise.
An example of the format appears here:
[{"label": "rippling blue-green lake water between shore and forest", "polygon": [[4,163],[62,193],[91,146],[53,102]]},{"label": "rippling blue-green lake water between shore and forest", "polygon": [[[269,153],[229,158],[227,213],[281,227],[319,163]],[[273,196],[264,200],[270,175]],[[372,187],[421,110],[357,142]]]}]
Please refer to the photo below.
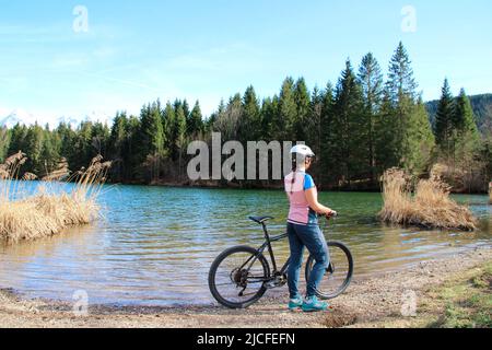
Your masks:
[{"label": "rippling blue-green lake water between shore and forest", "polygon": [[[34,188],[35,183],[30,185]],[[375,217],[378,194],[320,195],[340,218],[325,229],[355,256],[355,278],[400,269],[492,244],[492,209],[487,196],[456,196],[480,218],[473,233],[383,225]],[[104,219],[62,235],[19,245],[0,244],[0,288],[25,298],[70,301],[84,290],[91,303],[172,305],[212,303],[207,278],[223,249],[259,246],[260,228],[248,215],[272,215],[271,234],[285,230],[281,191],[106,187]],[[281,262],[286,242],[276,245]]]}]

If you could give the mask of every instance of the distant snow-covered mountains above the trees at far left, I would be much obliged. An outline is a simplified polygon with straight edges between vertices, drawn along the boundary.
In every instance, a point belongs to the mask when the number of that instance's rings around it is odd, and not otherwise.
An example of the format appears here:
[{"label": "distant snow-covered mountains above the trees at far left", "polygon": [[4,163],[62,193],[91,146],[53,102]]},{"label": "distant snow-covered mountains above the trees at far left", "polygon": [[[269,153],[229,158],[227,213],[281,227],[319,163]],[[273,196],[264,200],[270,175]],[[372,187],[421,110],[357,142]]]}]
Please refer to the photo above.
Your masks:
[{"label": "distant snow-covered mountains above the trees at far left", "polygon": [[12,128],[16,124],[24,124],[26,126],[31,126],[34,124],[38,124],[39,126],[45,126],[46,124],[49,125],[50,128],[56,128],[61,122],[70,124],[72,127],[77,127],[82,121],[101,121],[101,122],[107,122],[108,125],[112,124],[113,117],[105,114],[105,113],[98,113],[98,112],[91,112],[90,114],[85,115],[81,118],[75,117],[54,117],[54,116],[39,116],[34,115],[32,113],[28,113],[24,109],[14,109],[11,113],[7,114],[7,116],[0,110],[0,127],[8,127]]}]

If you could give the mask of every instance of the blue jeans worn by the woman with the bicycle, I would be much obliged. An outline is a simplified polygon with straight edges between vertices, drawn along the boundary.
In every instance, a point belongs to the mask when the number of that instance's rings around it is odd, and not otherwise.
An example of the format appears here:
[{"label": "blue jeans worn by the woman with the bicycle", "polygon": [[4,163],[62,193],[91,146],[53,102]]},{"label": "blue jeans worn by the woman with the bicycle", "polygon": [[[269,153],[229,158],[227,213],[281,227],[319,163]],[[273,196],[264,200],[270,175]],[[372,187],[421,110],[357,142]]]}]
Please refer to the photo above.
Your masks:
[{"label": "blue jeans worn by the woman with the bicycle", "polygon": [[289,243],[291,246],[291,264],[289,266],[289,292],[291,299],[300,296],[298,280],[303,265],[304,247],[316,260],[309,280],[307,281],[306,296],[315,296],[316,289],[330,264],[328,245],[319,225],[288,224]]}]

